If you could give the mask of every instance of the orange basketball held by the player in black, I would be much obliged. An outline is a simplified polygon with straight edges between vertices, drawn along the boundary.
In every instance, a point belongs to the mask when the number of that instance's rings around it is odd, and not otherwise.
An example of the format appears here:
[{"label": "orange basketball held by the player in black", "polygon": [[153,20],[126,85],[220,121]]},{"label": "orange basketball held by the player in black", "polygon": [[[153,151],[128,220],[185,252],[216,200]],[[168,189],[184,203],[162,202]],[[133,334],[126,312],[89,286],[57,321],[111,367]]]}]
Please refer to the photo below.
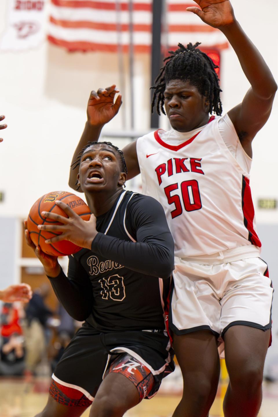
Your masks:
[{"label": "orange basketball held by the player in black", "polygon": [[36,246],[40,246],[41,250],[48,255],[52,256],[65,256],[75,254],[80,251],[80,246],[77,246],[67,240],[60,242],[54,242],[47,244],[45,240],[51,239],[54,236],[61,234],[62,232],[49,232],[45,230],[39,230],[38,224],[61,224],[51,219],[45,219],[41,213],[42,211],[50,211],[61,216],[68,217],[60,207],[55,204],[56,200],[63,201],[70,208],[75,211],[78,216],[82,217],[83,220],[90,219],[90,209],[84,201],[75,196],[73,193],[67,191],[53,191],[53,193],[45,194],[40,197],[35,204],[32,206],[28,215],[27,229],[30,233],[30,238]]}]

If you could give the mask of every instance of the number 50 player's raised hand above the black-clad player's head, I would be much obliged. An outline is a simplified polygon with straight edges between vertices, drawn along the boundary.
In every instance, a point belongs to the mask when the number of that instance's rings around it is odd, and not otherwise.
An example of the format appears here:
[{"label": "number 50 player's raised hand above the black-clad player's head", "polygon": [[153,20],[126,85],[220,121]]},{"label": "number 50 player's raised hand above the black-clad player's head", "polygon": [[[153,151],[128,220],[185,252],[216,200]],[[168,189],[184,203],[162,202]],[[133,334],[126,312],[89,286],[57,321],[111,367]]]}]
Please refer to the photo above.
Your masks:
[{"label": "number 50 player's raised hand above the black-clad player's head", "polygon": [[119,94],[114,103],[117,93],[119,90],[115,85],[91,92],[87,106],[88,122],[91,126],[102,126],[118,113],[122,104],[122,96]]}]

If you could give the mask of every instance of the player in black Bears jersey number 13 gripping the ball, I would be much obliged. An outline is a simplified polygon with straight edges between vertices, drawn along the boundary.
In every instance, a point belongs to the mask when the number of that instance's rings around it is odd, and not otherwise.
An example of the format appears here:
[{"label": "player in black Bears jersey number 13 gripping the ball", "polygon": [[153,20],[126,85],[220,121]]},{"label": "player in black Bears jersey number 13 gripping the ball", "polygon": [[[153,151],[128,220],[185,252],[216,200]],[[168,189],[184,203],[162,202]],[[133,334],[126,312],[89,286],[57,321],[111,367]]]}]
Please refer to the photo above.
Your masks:
[{"label": "player in black Bears jersey number 13 gripping the ball", "polygon": [[174,244],[160,203],[123,190],[127,170],[118,148],[91,143],[77,164],[90,220],[57,201],[68,218],[45,212],[61,226],[38,226],[63,232],[48,242],[66,239],[84,248],[69,256],[68,276],[56,257],[30,241],[25,222],[27,243],[58,299],[73,318],[85,320],[38,416],[77,417],[93,402],[90,417],[118,417],[152,397],[173,369],[164,307]]}]

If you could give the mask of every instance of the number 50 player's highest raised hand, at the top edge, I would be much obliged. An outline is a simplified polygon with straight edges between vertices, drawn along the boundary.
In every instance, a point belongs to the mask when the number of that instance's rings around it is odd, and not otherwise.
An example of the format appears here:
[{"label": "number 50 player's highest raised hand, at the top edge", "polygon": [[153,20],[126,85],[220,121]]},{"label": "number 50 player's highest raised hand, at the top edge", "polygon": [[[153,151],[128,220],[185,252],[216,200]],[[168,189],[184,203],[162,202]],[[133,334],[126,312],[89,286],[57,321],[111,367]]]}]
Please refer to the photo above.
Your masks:
[{"label": "number 50 player's highest raised hand, at the top edge", "polygon": [[194,0],[198,7],[188,7],[188,12],[198,15],[203,22],[213,28],[221,29],[235,21],[232,5],[229,0]]}]

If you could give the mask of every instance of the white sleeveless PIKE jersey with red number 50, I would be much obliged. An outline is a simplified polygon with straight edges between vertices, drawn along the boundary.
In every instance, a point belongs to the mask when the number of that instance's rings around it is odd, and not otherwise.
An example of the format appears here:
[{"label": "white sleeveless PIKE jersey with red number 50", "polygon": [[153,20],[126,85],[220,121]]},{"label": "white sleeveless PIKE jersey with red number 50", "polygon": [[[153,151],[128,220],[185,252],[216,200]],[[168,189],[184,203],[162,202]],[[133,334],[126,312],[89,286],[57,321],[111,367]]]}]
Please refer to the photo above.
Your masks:
[{"label": "white sleeveless PIKE jersey with red number 50", "polygon": [[159,130],[137,140],[143,193],[163,205],[180,258],[261,246],[249,173],[220,136],[221,119],[212,116],[190,138]]}]

